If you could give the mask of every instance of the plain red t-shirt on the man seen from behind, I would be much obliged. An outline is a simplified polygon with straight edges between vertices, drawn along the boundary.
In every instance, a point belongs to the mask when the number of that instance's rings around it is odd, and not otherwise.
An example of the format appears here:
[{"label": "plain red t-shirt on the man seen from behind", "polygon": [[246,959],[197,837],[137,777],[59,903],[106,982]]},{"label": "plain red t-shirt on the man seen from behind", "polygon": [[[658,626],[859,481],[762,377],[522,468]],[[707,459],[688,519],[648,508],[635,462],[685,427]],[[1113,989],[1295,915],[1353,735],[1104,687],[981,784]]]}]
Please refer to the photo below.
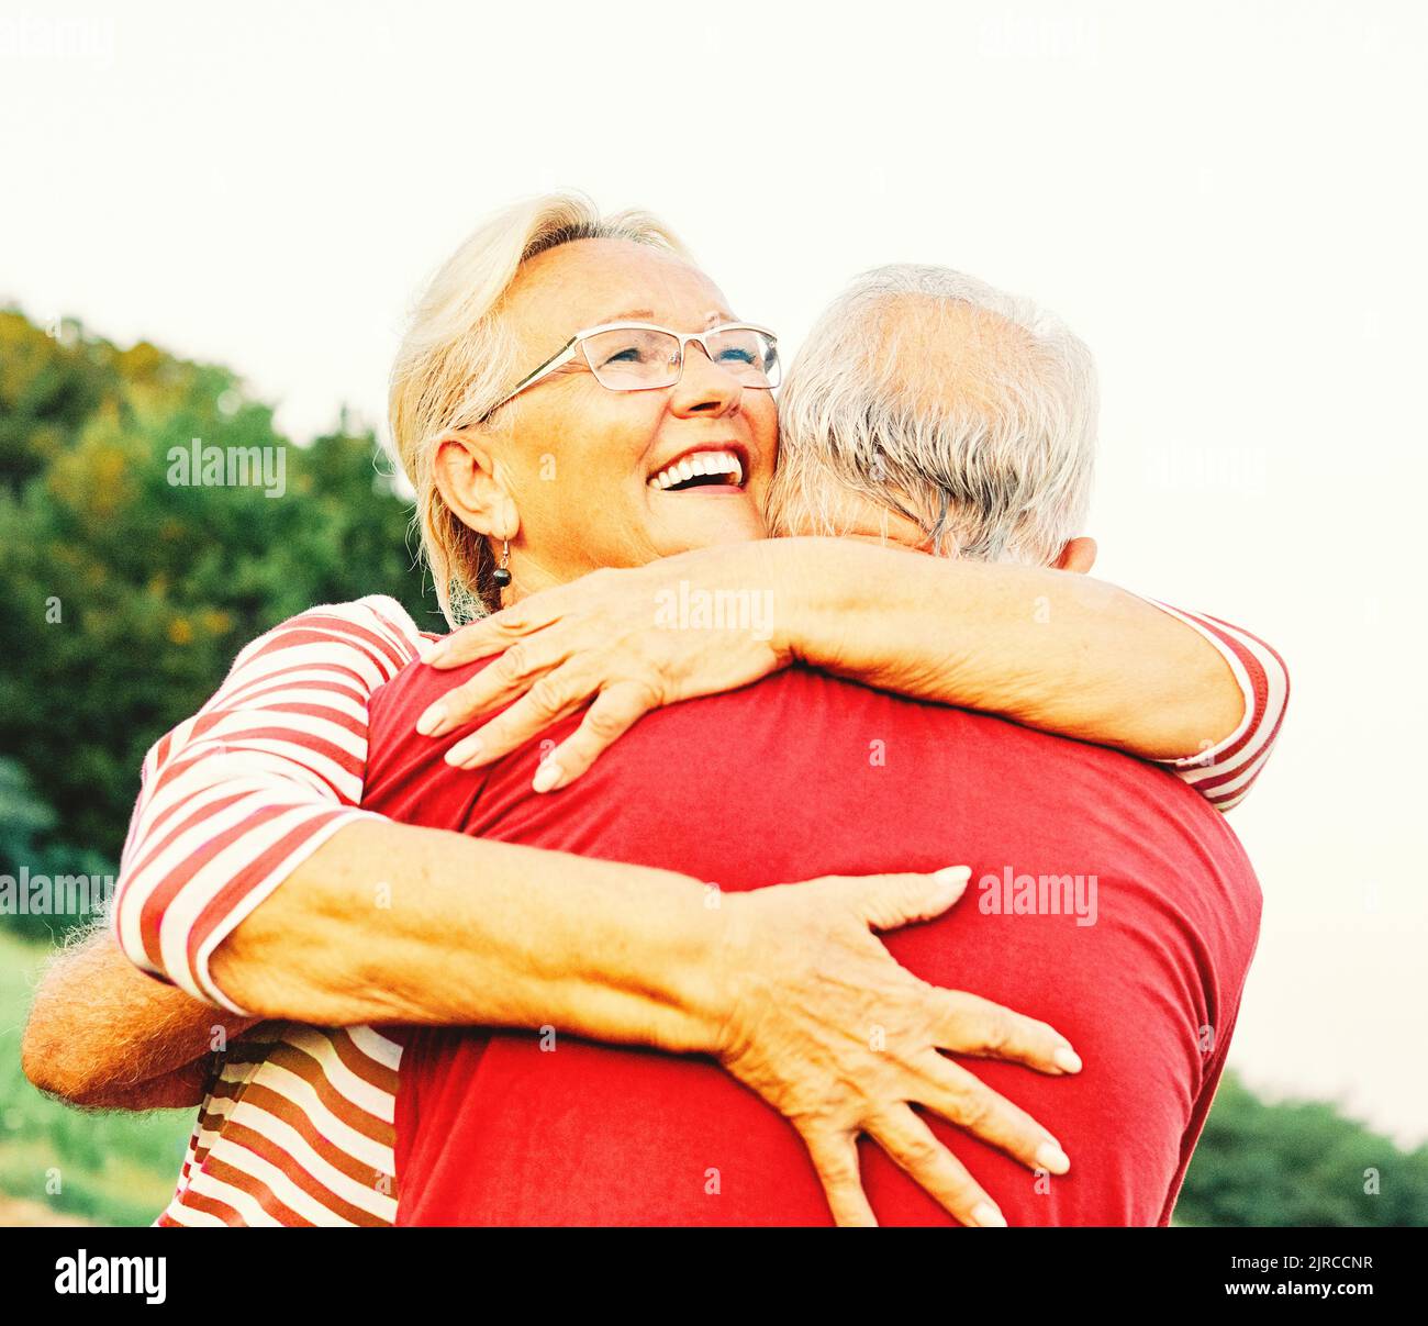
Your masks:
[{"label": "plain red t-shirt on the man seen from behind", "polygon": [[[650,714],[574,786],[538,796],[543,742],[575,719],[471,773],[441,759],[456,736],[413,730],[471,670],[413,666],[374,694],[364,806],[724,890],[971,866],[950,913],[885,942],[925,980],[1071,1040],[1085,1063],[1072,1077],[964,1060],[1061,1140],[1071,1172],[1038,1177],[928,1115],[932,1130],[1012,1225],[1168,1222],[1261,902],[1194,790],[1111,750],[794,669]],[[565,1035],[551,1052],[537,1029],[403,1040],[398,1225],[831,1220],[798,1135],[713,1060]],[[877,1146],[860,1149],[881,1223],[952,1223]]]}]

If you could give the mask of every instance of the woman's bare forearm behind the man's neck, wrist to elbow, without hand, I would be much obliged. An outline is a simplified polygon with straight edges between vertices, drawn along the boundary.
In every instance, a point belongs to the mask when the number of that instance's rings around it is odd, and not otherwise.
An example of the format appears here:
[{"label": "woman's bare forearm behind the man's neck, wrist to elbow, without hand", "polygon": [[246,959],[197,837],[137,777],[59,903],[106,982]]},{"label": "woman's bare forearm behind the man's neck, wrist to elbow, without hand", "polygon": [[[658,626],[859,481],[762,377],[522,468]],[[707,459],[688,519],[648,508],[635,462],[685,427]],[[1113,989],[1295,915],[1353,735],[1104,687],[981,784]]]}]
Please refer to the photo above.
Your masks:
[{"label": "woman's bare forearm behind the man's neck, wrist to elbow, without hand", "polygon": [[1102,580],[844,539],[777,543],[780,626],[813,666],[1148,759],[1208,750],[1244,717],[1214,646]]}]

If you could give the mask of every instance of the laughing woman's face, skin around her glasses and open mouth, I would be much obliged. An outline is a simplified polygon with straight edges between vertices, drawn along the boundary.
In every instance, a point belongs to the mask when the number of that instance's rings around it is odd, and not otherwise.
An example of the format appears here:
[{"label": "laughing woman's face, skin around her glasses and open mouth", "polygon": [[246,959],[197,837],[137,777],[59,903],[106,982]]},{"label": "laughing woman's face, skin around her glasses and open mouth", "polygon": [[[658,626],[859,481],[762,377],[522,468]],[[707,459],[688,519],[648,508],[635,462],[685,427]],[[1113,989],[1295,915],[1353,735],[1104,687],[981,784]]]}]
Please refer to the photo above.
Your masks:
[{"label": "laughing woman's face, skin around her glasses and open mouth", "polygon": [[[645,321],[703,332],[737,320],[697,267],[624,240],[578,240],[538,254],[511,286],[507,309],[517,382],[581,327]],[[743,386],[695,344],[685,347],[678,383],[657,390],[607,390],[583,356],[577,363],[504,406],[508,432],[501,413],[493,420],[491,453],[520,520],[511,539],[518,590],[764,537],[778,427],[771,392]],[[700,452],[734,453],[743,482],[683,492],[651,484]]]}]

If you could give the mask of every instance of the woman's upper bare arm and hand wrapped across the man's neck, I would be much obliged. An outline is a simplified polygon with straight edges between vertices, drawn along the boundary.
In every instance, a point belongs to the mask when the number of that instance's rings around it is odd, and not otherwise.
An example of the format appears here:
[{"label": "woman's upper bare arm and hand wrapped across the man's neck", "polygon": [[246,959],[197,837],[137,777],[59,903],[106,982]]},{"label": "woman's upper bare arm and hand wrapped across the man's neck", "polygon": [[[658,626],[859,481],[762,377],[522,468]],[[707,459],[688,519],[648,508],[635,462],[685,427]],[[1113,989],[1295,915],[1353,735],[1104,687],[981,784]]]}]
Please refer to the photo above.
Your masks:
[{"label": "woman's upper bare arm and hand wrapped across the man's neck", "polygon": [[[650,709],[795,660],[1184,766],[1207,793],[1231,753],[1248,750],[1250,776],[1258,770],[1287,693],[1261,683],[1264,703],[1251,709],[1257,692],[1207,623],[1105,582],[847,539],[727,544],[597,572],[464,627],[426,660],[450,667],[503,650],[418,730],[441,736],[516,700],[450,752],[474,767],[595,696],[543,764],[540,790],[577,777]],[[1277,656],[1264,656],[1272,669]]]}]

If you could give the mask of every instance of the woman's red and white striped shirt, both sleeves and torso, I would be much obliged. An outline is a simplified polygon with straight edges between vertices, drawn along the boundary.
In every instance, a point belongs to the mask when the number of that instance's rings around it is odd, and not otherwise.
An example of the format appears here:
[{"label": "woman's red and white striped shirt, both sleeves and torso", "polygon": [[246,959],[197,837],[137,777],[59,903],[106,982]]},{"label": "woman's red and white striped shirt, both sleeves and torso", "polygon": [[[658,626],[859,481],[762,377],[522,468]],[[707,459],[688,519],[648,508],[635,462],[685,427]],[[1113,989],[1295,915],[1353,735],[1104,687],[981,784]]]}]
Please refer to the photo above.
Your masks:
[{"label": "woman's red and white striped shirt, both sleeves and torso", "polygon": [[[1245,697],[1225,740],[1161,762],[1228,810],[1264,767],[1288,676],[1247,632],[1165,610],[1220,650]],[[213,980],[214,949],[338,829],[380,819],[360,809],[368,700],[433,639],[396,600],[371,596],[301,613],[238,654],[213,699],[144,760],[114,902],[130,960],[243,1012]],[[157,1223],[393,1223],[400,1055],[371,1027],[266,1022],[234,1039]]]}]

